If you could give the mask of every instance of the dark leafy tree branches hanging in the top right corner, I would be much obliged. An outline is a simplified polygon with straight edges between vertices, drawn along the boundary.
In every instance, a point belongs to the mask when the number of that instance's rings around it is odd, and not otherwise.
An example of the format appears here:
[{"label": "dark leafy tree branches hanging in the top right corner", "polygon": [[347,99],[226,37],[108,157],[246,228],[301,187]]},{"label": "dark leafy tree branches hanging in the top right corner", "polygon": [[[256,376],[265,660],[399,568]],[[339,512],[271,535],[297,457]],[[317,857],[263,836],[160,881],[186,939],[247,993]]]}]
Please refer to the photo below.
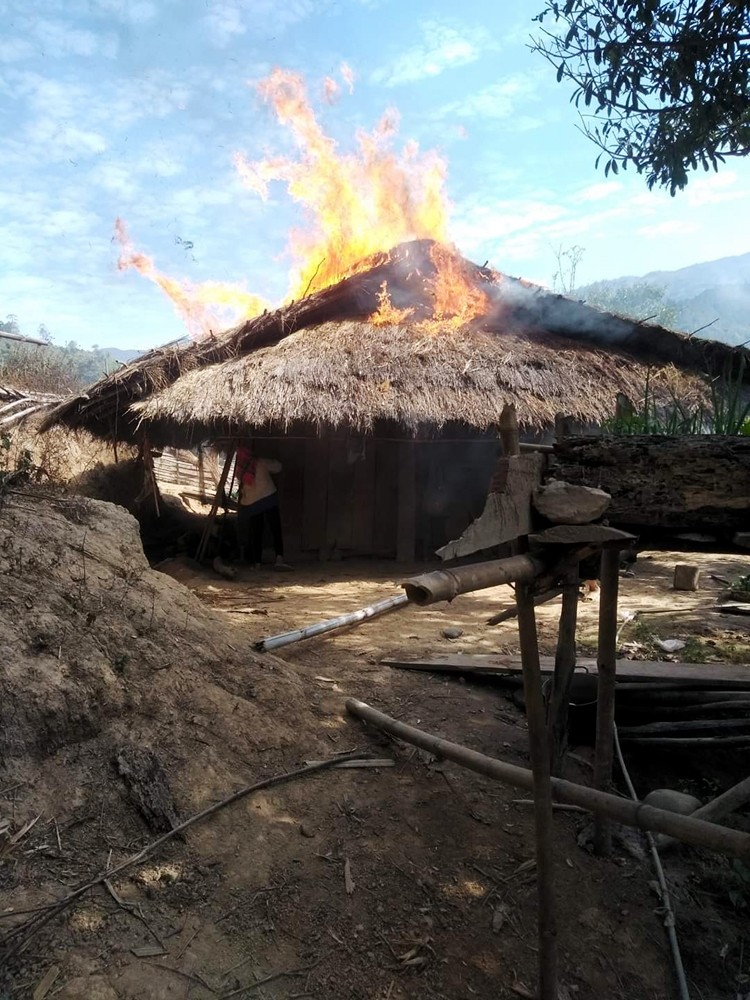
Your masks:
[{"label": "dark leafy tree branches hanging in the top right corner", "polygon": [[605,174],[675,194],[750,152],[750,0],[547,0],[534,20]]}]

